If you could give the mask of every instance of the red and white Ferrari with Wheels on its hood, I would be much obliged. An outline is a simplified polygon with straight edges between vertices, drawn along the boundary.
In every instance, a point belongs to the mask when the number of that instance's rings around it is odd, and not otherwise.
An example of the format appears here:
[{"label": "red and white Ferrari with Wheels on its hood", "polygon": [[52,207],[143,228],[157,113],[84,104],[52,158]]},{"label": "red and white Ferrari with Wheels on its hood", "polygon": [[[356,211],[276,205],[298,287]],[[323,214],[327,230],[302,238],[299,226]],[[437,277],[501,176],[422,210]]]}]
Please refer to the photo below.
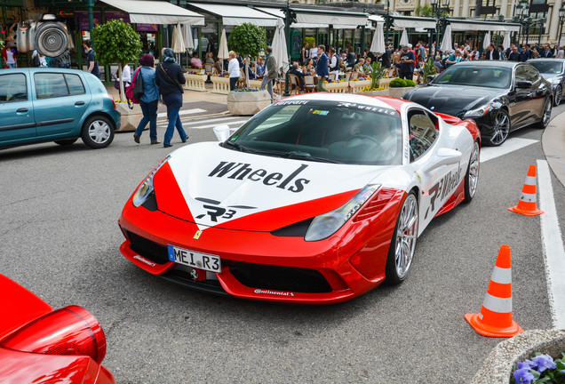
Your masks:
[{"label": "red and white Ferrari with Wheels on its hood", "polygon": [[201,291],[325,304],[399,284],[418,235],[477,188],[473,120],[410,101],[300,95],[215,132],[158,164],[119,219],[127,259]]}]

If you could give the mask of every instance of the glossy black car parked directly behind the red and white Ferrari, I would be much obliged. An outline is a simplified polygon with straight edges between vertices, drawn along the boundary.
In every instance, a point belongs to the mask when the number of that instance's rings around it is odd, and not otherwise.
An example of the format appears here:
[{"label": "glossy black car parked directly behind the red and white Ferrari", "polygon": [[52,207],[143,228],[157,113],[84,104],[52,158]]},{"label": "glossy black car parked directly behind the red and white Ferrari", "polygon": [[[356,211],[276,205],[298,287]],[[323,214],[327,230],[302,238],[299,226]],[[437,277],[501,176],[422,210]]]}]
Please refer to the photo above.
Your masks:
[{"label": "glossy black car parked directly behind the red and white Ferrari", "polygon": [[527,63],[465,61],[403,96],[434,112],[473,118],[483,142],[499,146],[530,124],[545,128],[552,116],[552,85]]}]

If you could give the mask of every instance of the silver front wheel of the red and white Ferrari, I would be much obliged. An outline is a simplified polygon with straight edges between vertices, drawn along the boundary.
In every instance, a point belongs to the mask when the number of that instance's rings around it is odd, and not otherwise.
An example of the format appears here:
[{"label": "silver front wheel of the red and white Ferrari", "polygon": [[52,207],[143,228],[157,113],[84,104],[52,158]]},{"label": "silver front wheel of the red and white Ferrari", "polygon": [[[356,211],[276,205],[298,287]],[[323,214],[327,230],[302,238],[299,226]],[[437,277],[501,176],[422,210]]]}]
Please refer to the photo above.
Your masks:
[{"label": "silver front wheel of the red and white Ferrari", "polygon": [[396,275],[403,279],[410,269],[416,238],[418,236],[418,201],[410,194],[404,200],[396,229],[395,267]]}]

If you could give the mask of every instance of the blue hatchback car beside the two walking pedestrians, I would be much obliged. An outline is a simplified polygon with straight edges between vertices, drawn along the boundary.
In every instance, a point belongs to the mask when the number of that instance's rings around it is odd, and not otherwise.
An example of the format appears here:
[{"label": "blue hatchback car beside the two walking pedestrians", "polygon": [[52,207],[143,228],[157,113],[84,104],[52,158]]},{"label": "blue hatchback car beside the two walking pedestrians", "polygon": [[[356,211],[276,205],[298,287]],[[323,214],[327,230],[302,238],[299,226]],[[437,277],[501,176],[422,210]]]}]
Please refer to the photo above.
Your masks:
[{"label": "blue hatchback car beside the two walking pedestrians", "polygon": [[55,141],[105,148],[120,113],[99,78],[64,68],[0,70],[0,148]]}]

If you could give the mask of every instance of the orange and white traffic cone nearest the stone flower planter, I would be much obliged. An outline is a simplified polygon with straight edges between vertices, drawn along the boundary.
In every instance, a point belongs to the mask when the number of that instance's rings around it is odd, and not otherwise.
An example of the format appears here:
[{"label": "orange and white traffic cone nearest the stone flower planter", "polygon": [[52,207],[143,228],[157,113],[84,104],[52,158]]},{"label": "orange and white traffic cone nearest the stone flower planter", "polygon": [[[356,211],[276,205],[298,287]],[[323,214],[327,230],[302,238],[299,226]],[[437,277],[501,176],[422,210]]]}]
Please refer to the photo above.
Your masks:
[{"label": "orange and white traffic cone nearest the stone flower planter", "polygon": [[466,314],[465,319],[483,336],[513,337],[524,332],[512,319],[512,269],[508,245],[502,245],[498,251],[481,313]]}]

